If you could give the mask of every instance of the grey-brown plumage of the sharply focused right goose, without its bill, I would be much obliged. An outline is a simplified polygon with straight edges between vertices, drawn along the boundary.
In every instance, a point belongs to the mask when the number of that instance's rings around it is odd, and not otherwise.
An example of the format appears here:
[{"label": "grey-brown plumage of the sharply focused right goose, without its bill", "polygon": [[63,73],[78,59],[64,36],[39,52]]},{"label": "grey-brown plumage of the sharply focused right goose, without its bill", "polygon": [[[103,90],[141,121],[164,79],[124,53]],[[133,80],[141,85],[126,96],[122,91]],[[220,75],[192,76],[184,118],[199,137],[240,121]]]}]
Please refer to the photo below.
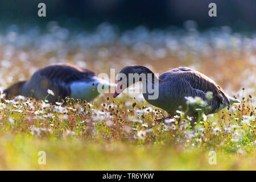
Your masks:
[{"label": "grey-brown plumage of the sharply focused right goose, without its bill", "polygon": [[[122,69],[121,73],[153,73],[143,66],[132,66]],[[154,73],[153,73],[154,74]],[[169,114],[174,114],[176,110],[182,107],[187,110],[188,115],[196,115],[196,108],[188,107],[185,97],[200,97],[207,102],[204,108],[206,114],[216,113],[222,107],[230,106],[230,97],[225,94],[224,90],[218,86],[212,79],[204,74],[187,67],[172,69],[162,73],[158,78],[159,97],[155,100],[147,98],[148,93],[143,96],[150,104],[166,110]],[[154,83],[153,83],[154,84]],[[129,85],[126,85],[129,86]],[[207,93],[212,93],[209,100]],[[233,102],[240,102],[232,98]]]}]

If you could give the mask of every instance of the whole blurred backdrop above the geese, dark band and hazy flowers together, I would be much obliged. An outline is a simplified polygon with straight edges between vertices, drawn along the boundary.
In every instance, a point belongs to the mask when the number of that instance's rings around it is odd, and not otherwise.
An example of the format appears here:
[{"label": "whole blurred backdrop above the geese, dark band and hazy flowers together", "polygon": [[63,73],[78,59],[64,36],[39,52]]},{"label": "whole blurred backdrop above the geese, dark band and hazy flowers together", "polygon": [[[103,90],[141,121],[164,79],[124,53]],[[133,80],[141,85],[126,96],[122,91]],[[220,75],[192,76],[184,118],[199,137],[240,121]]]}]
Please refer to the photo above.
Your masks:
[{"label": "whole blurred backdrop above the geese, dark band and hazy flowers together", "polygon": [[[46,4],[46,17],[38,4]],[[217,17],[208,16],[216,3]],[[142,64],[212,77],[229,94],[255,93],[254,0],[10,0],[0,2],[0,86],[52,63],[96,73]]]}]

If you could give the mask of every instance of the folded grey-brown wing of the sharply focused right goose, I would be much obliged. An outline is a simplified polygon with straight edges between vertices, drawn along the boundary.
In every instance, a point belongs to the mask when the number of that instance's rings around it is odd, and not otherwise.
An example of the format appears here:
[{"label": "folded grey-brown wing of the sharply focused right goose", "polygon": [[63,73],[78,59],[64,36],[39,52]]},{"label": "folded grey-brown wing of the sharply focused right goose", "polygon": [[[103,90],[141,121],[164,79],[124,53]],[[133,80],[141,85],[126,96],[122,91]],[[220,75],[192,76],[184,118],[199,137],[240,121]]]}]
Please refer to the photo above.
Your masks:
[{"label": "folded grey-brown wing of the sharply focused right goose", "polygon": [[220,104],[229,106],[229,98],[224,93],[224,90],[217,85],[212,79],[204,74],[195,71],[194,69],[187,67],[180,67],[172,69],[169,72],[163,73],[159,76],[159,79],[171,79],[176,83],[177,92],[181,96],[187,95],[192,97],[201,97],[203,100],[207,100],[206,93],[212,92],[213,98],[208,102],[208,105],[212,107],[211,113],[214,113]]}]

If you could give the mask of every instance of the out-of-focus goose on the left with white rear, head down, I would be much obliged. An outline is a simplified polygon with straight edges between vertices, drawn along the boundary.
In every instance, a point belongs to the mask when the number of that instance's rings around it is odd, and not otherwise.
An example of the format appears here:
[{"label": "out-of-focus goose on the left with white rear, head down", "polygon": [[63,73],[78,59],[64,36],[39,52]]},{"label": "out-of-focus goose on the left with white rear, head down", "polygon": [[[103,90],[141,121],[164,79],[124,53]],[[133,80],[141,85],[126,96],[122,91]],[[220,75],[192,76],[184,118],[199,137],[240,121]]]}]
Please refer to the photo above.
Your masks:
[{"label": "out-of-focus goose on the left with white rear, head down", "polygon": [[104,89],[115,85],[98,78],[89,69],[71,64],[53,64],[36,71],[30,80],[11,85],[3,93],[6,98],[22,95],[44,100],[48,95],[47,90],[50,89],[54,94],[47,97],[50,102],[57,101],[58,96],[63,99],[69,96],[91,101],[100,94],[97,89],[99,84],[102,84]]}]

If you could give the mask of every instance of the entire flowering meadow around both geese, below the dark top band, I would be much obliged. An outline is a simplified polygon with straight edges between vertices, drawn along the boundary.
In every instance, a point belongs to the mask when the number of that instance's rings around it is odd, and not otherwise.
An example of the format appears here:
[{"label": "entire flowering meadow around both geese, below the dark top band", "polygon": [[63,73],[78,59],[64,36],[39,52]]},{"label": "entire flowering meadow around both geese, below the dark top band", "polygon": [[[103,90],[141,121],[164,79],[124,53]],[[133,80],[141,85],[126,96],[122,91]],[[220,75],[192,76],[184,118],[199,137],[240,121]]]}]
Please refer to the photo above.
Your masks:
[{"label": "entire flowering meadow around both geese, below the dark top band", "polygon": [[[229,27],[205,32],[138,27],[120,34],[106,23],[95,32],[57,23],[44,31],[15,27],[0,32],[2,88],[53,63],[98,74],[110,68],[117,74],[135,64],[159,74],[187,66],[213,78],[242,103],[204,115],[192,128],[180,111],[171,120],[155,122],[167,113],[137,95],[113,100],[105,94],[90,103],[70,98],[67,104],[52,105],[23,97],[5,100],[1,94],[1,170],[256,169],[255,35]],[[46,165],[38,164],[39,151],[46,152]],[[209,164],[210,151],[216,152],[216,165]]]}]

